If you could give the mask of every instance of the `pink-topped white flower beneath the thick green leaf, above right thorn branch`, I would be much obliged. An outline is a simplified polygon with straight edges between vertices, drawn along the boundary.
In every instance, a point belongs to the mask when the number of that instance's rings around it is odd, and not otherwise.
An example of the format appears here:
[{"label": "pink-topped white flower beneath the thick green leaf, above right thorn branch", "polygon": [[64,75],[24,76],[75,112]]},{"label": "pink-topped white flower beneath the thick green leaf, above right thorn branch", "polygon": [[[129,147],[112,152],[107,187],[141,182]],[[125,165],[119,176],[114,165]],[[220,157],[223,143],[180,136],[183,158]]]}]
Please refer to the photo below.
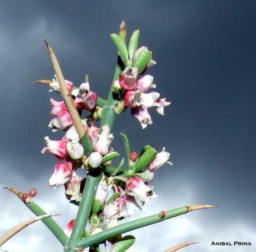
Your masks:
[{"label": "pink-topped white flower beneath the thick green leaf, above right thorn branch", "polygon": [[142,202],[147,202],[148,197],[152,195],[152,186],[146,185],[139,176],[128,179],[126,184],[126,194],[137,197]]}]

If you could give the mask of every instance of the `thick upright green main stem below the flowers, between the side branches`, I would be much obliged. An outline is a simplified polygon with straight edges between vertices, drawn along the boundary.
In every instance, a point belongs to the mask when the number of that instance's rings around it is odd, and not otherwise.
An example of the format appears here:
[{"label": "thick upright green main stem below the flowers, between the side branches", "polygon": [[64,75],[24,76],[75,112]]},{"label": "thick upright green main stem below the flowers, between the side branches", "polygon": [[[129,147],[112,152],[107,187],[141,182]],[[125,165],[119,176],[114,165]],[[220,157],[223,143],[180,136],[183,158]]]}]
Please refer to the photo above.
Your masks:
[{"label": "thick upright green main stem below the flowers, between the side branches", "polygon": [[79,203],[79,211],[76,216],[76,223],[72,230],[72,235],[67,242],[67,251],[73,251],[70,247],[74,246],[76,241],[81,240],[83,237],[100,179],[101,174],[93,174],[92,172],[86,177],[86,186],[83,189],[83,197]]}]

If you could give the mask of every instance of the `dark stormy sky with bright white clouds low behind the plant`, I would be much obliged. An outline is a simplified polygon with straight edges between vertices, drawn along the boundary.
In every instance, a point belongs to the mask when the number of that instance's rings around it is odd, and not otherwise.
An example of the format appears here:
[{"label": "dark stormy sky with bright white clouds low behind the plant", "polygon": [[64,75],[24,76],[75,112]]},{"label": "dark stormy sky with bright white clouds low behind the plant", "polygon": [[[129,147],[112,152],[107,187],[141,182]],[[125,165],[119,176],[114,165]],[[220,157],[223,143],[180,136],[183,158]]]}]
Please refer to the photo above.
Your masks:
[{"label": "dark stormy sky with bright white clouds low behind the plant", "polygon": [[[116,150],[125,132],[134,151],[151,144],[171,153],[173,166],[161,167],[152,185],[158,198],[133,218],[189,204],[218,209],[189,213],[130,232],[129,251],[165,251],[183,241],[187,252],[250,252],[255,228],[255,1],[1,1],[0,3],[0,187],[36,188],[37,202],[62,227],[76,216],[64,189],[48,178],[55,158],[42,155],[43,137],[60,138],[48,128],[48,87],[32,80],[53,78],[43,39],[55,50],[64,76],[76,85],[90,74],[90,87],[107,97],[116,63],[109,34],[125,19],[129,34],[140,29],[140,45],[153,52],[149,69],[162,97],[172,102],[166,115],[151,113],[142,130],[129,111],[116,119]],[[0,236],[33,214],[0,190]],[[149,243],[151,241],[151,243]],[[212,241],[250,241],[252,246],[210,246]],[[3,250],[62,251],[42,223],[22,230]]]}]

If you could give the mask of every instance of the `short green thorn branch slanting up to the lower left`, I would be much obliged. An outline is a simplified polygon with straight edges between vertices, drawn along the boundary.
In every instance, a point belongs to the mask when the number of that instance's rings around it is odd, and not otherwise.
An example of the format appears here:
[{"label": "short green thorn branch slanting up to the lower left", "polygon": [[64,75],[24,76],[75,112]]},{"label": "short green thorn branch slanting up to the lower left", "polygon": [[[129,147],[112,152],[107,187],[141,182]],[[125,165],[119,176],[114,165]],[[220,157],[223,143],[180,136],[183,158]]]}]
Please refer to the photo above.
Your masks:
[{"label": "short green thorn branch slanting up to the lower left", "polygon": [[[20,200],[22,200],[22,194],[23,194],[22,192],[14,189],[14,188],[6,188],[6,189],[10,190],[12,193],[17,195]],[[22,200],[22,202],[23,202],[23,200]],[[47,214],[36,203],[32,202],[32,200],[29,200],[29,202],[24,202],[24,203],[36,216],[41,216],[41,215]],[[63,232],[62,228],[60,228],[60,226],[57,223],[55,223],[53,218],[50,218],[50,217],[43,218],[41,221],[43,221],[43,223],[46,225],[46,227],[53,233],[53,235],[55,235],[55,237],[60,241],[60,243],[63,246],[65,246],[68,237],[67,237],[67,235],[65,235],[65,232]]]}]

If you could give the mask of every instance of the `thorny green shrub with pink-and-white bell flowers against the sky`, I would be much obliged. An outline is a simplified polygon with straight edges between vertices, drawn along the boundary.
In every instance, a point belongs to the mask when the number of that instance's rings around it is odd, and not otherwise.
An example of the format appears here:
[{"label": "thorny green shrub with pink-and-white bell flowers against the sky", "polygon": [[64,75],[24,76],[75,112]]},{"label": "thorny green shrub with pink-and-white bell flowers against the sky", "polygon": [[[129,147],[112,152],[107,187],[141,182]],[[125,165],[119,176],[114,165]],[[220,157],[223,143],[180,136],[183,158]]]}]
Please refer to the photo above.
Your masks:
[{"label": "thorny green shrub with pink-and-white bell flowers against the sky", "polygon": [[[90,85],[88,76],[77,86],[65,80],[52,48],[46,43],[56,75],[53,80],[36,82],[47,84],[50,91],[59,92],[63,99],[50,99],[53,119],[48,125],[53,132],[63,131],[63,137],[58,140],[45,137],[46,146],[41,153],[50,153],[58,159],[49,185],[54,188],[62,186],[67,200],[79,206],[79,211],[64,230],[50,216],[41,220],[62,243],[64,251],[82,251],[88,247],[90,251],[100,251],[100,244],[106,241],[112,244],[109,251],[125,251],[133,245],[135,237],[123,237],[124,232],[212,207],[180,207],[135,221],[123,221],[135,211],[142,210],[148,200],[157,197],[150,185],[154,172],[163,165],[172,165],[166,148],[157,151],[145,145],[138,152],[132,151],[128,137],[123,133],[127,165],[125,158],[119,165],[114,165],[114,159],[120,156],[112,146],[112,125],[116,116],[130,108],[131,114],[145,129],[152,124],[151,109],[163,116],[164,108],[170,105],[159,92],[151,91],[156,85],[153,76],[147,72],[156,62],[147,47],[137,48],[139,36],[140,31],[135,30],[127,46],[125,22],[121,22],[119,34],[111,34],[119,57],[107,99],[91,90],[93,85]],[[86,177],[76,174],[77,169],[86,170]],[[32,202],[36,189],[32,188],[29,193],[8,189],[37,216],[46,214]],[[179,248],[187,245],[184,243]],[[177,250],[177,246],[173,249]]]}]

